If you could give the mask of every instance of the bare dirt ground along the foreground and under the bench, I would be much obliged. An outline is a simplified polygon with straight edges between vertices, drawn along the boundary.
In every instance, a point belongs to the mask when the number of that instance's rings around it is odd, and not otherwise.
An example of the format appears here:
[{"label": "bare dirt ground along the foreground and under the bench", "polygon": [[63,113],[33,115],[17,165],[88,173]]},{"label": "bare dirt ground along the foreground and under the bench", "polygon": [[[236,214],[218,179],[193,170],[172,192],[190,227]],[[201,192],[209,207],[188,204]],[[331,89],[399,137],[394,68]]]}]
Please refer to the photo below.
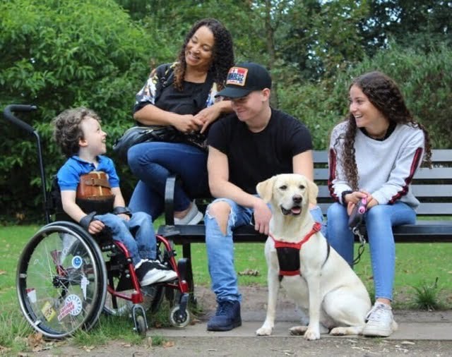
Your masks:
[{"label": "bare dirt ground along the foreground and under the bench", "polygon": [[[262,320],[266,310],[266,288],[244,286],[242,317],[247,321]],[[203,315],[198,323],[204,323],[215,310],[215,298],[209,289],[196,287],[198,303]],[[278,309],[290,310],[293,303],[280,294]],[[405,322],[452,321],[452,311],[422,312],[396,310],[396,320]],[[190,327],[186,327],[189,329]],[[155,330],[154,330],[155,331]],[[23,356],[451,356],[452,341],[389,340],[364,337],[322,337],[319,341],[305,341],[302,337],[178,337],[165,339],[153,346],[147,337],[140,345],[124,341],[111,341],[104,346],[78,348],[68,343],[58,344],[51,350]]]}]

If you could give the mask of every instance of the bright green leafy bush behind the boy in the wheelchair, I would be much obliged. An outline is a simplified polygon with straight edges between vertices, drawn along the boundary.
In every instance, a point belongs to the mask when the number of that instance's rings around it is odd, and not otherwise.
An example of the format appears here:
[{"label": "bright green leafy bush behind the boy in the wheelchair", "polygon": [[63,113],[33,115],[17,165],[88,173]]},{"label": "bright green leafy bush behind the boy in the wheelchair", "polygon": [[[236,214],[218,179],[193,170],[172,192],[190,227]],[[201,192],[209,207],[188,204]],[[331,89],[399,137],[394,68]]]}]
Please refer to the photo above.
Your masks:
[{"label": "bright green leafy bush behind the boy in the wheelchair", "polygon": [[[63,3],[0,2],[0,106],[37,105],[39,110],[23,120],[42,136],[48,176],[64,162],[52,142],[52,118],[69,107],[90,107],[100,114],[112,145],[131,126],[134,95],[150,71],[149,55],[158,53],[153,37],[115,1]],[[41,211],[36,210],[40,178],[35,144],[9,123],[1,132],[2,214],[35,219]],[[124,177],[123,182],[134,183]]]}]

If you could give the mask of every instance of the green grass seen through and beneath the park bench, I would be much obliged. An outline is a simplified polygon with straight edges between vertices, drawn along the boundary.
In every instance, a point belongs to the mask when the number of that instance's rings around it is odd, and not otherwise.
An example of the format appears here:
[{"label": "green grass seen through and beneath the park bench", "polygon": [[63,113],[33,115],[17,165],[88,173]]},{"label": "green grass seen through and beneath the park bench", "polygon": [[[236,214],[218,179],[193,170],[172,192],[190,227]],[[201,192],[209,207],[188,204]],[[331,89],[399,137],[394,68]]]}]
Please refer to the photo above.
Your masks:
[{"label": "green grass seen through and beneath the park bench", "polygon": [[[182,249],[177,247],[178,255]],[[239,285],[266,285],[267,267],[263,254],[263,243],[236,244],[235,266],[238,273],[257,270],[259,275],[239,275]],[[355,247],[357,252],[357,246]],[[196,284],[208,285],[206,246],[203,243],[191,245],[194,280]],[[396,308],[410,308],[415,299],[416,287],[433,284],[438,278],[441,290],[439,299],[445,308],[452,308],[452,244],[451,243],[400,243],[396,245],[396,279],[394,282],[394,303]],[[374,285],[369,256],[365,246],[361,261],[355,265],[355,272],[366,285],[371,296]],[[398,301],[400,298],[400,301]]]}]

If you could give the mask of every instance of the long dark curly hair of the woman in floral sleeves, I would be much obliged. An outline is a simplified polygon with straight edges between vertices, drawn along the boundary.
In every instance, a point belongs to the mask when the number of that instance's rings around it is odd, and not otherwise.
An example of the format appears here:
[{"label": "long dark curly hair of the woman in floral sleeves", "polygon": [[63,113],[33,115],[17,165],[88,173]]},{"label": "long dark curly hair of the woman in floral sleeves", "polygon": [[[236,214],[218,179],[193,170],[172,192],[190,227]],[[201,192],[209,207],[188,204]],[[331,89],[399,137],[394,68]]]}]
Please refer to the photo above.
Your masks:
[{"label": "long dark curly hair of the woman in floral sleeves", "polygon": [[218,90],[222,90],[225,85],[227,72],[234,66],[234,49],[232,48],[232,36],[220,21],[215,18],[204,18],[193,25],[191,30],[186,34],[184,44],[179,52],[176,68],[174,68],[174,87],[182,90],[184,83],[184,75],[186,70],[185,49],[194,33],[206,26],[213,33],[215,40],[212,49],[212,63],[209,72],[213,75],[213,80],[217,83]]}]

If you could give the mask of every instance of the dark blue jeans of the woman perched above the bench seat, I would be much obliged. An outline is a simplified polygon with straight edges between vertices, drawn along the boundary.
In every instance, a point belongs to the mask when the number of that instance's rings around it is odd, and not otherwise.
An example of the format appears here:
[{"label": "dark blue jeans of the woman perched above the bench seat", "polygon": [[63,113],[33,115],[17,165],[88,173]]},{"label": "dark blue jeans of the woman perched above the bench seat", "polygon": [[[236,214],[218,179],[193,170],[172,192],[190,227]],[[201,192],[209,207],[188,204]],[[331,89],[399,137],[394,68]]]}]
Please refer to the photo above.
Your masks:
[{"label": "dark blue jeans of the woman perched above the bench seat", "polygon": [[174,210],[189,207],[191,198],[209,196],[207,152],[180,143],[141,143],[129,149],[127,159],[138,181],[129,207],[146,212],[156,219],[165,205],[165,183],[176,174],[180,180],[174,188]]}]

